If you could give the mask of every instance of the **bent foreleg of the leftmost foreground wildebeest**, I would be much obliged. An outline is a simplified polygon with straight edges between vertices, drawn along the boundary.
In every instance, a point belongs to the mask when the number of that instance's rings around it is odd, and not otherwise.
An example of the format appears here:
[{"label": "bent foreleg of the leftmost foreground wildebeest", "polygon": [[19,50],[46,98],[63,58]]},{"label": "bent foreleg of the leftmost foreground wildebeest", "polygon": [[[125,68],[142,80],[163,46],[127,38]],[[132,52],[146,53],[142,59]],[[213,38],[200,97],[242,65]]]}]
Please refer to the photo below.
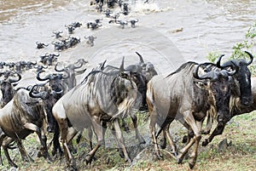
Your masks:
[{"label": "bent foreleg of the leftmost foreground wildebeest", "polygon": [[39,138],[41,146],[42,146],[40,149],[42,154],[38,153],[38,157],[41,157],[41,155],[42,155],[44,158],[51,160],[49,157],[49,153],[48,153],[48,149],[47,149],[47,145],[46,145],[46,136],[44,134],[44,131],[41,128],[38,128],[38,126],[33,123],[25,123],[24,127],[27,129],[30,129],[30,130],[36,132],[36,134],[38,134],[38,138]]}]

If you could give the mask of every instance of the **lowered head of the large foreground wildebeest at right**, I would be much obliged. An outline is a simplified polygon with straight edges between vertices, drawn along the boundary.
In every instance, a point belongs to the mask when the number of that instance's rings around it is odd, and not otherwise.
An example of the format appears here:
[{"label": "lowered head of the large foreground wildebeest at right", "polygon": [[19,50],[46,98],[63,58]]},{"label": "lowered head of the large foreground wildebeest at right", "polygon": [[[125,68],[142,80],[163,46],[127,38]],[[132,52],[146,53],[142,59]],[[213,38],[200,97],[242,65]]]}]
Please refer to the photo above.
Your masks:
[{"label": "lowered head of the large foreground wildebeest at right", "polygon": [[[208,65],[209,63],[200,64],[196,67],[194,77],[202,80],[197,84],[199,88],[207,89],[208,101],[214,106],[213,115],[217,114],[218,122],[230,119],[230,79],[236,74],[235,71],[209,71],[203,76],[198,75],[199,67]],[[212,64],[215,66],[214,64]]]}]

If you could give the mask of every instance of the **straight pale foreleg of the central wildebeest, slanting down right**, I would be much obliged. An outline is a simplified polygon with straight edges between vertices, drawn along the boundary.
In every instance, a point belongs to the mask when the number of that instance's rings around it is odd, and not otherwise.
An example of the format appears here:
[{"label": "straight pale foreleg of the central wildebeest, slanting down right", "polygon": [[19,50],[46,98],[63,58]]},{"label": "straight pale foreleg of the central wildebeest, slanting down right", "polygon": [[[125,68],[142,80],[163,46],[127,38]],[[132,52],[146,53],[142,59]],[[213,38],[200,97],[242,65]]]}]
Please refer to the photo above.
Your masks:
[{"label": "straight pale foreleg of the central wildebeest, slanting down right", "polygon": [[125,141],[124,141],[124,137],[122,135],[121,129],[119,127],[119,119],[118,118],[115,118],[113,120],[113,127],[115,130],[116,138],[118,140],[118,144],[120,145],[120,147],[122,148],[122,150],[124,152],[125,159],[126,159],[126,161],[131,163],[131,158],[129,157],[128,152],[126,151],[126,148],[125,148]]}]

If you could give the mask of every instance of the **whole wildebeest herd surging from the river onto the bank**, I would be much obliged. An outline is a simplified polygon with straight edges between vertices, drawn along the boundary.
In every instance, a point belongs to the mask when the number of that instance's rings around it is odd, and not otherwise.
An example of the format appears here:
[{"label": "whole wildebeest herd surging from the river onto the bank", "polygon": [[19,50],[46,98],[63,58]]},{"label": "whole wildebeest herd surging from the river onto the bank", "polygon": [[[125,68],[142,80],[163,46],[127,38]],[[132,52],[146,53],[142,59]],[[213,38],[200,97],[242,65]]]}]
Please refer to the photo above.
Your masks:
[{"label": "whole wildebeest herd surging from the river onto the bank", "polygon": [[[103,3],[109,8],[118,3],[124,13],[129,14],[127,4],[121,1],[96,1],[98,8],[102,8]],[[74,27],[79,26],[79,23],[76,24]],[[55,32],[55,37],[61,37],[60,33]],[[37,44],[45,46],[43,43]],[[32,161],[21,140],[35,132],[41,145],[38,157],[52,161],[51,155],[58,157],[64,151],[67,168],[77,170],[72,153],[75,135],[88,130],[90,151],[85,161],[90,163],[96,151],[105,145],[108,128],[113,131],[120,156],[131,162],[122,128],[128,127],[125,118],[131,117],[137,140],[145,143],[137,129],[136,111],[146,109],[155,155],[161,157],[157,141],[162,134],[161,147],[166,148],[167,139],[177,163],[183,162],[194,145],[189,156],[189,167],[194,168],[201,134],[210,134],[214,119],[218,125],[202,145],[210,143],[215,135],[222,134],[225,124],[232,117],[256,109],[256,80],[254,77],[251,80],[247,67],[252,64],[253,55],[247,51],[245,55],[250,60],[228,60],[221,64],[221,55],[216,63],[189,61],[167,76],[158,75],[154,64],[145,62],[141,54],[137,55],[139,62],[126,67],[125,58],[119,67],[106,65],[108,61],[102,61],[84,76],[81,83],[77,83],[76,76],[86,71],[88,61],[84,59],[68,66],[57,62],[59,54],[45,54],[39,61],[42,65],[35,61],[1,62],[0,145],[9,165],[18,167],[9,156],[9,150],[14,148],[13,142],[18,146],[22,159]],[[45,69],[52,65],[54,67],[50,69],[53,71],[47,73]],[[40,83],[15,88],[23,71],[35,72],[35,79]],[[202,128],[206,118],[207,127]],[[169,131],[175,119],[188,129],[186,144],[182,149],[177,148]],[[123,124],[120,125],[120,122]],[[51,155],[44,130],[54,134]],[[96,135],[94,146],[91,140],[93,134]],[[0,160],[3,164],[1,156]]]}]

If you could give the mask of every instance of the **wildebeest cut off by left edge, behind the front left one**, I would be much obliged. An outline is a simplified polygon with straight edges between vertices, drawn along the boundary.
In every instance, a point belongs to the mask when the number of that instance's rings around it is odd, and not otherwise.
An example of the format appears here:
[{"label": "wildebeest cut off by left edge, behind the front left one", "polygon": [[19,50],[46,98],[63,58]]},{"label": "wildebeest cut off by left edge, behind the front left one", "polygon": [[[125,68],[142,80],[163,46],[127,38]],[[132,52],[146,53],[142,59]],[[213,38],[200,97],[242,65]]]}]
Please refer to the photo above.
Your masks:
[{"label": "wildebeest cut off by left edge, behind the front left one", "polygon": [[0,88],[2,92],[2,99],[0,108],[6,105],[15,95],[14,83],[18,83],[21,79],[21,75],[14,71],[4,71],[0,73],[3,75],[3,79],[0,80]]}]

